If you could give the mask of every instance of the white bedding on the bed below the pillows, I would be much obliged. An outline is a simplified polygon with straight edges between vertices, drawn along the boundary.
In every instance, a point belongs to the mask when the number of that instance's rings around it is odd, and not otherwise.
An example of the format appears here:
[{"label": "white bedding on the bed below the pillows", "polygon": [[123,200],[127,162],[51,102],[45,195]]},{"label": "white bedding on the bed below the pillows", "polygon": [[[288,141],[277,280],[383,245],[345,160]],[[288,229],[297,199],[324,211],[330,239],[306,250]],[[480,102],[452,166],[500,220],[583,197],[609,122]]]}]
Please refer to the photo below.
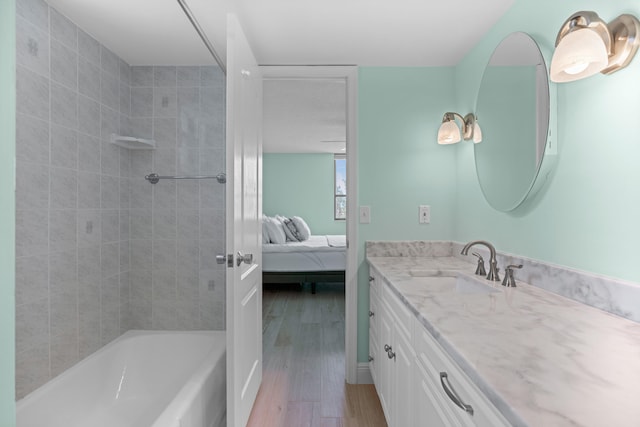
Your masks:
[{"label": "white bedding on the bed below the pillows", "polygon": [[344,235],[311,236],[303,242],[262,245],[262,271],[342,271],[346,268]]}]

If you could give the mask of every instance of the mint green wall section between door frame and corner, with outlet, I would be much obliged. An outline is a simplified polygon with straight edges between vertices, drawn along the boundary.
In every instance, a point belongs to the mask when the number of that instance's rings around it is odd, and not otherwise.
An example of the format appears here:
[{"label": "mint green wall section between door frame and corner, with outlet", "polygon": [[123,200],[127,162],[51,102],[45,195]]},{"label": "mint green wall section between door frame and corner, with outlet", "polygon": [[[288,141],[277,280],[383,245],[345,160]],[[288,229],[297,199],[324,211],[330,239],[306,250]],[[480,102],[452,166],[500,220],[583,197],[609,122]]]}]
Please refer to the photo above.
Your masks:
[{"label": "mint green wall section between door frame and corner, with outlet", "polygon": [[[455,219],[455,148],[436,144],[446,111],[455,111],[452,68],[360,68],[358,202],[371,224],[358,225],[358,360],[368,352],[367,240],[450,239]],[[418,206],[431,224],[418,224]]]}]

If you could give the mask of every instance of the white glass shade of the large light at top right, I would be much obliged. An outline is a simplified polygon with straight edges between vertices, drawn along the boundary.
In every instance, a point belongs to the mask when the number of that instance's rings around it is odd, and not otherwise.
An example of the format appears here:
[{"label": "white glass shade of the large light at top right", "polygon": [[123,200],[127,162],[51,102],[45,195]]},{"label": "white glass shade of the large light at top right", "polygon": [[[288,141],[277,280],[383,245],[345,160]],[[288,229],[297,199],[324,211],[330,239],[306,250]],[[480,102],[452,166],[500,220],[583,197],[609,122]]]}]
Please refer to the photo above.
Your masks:
[{"label": "white glass shade of the large light at top right", "polygon": [[565,35],[551,59],[551,80],[572,82],[592,76],[609,64],[604,41],[593,30],[581,28]]}]

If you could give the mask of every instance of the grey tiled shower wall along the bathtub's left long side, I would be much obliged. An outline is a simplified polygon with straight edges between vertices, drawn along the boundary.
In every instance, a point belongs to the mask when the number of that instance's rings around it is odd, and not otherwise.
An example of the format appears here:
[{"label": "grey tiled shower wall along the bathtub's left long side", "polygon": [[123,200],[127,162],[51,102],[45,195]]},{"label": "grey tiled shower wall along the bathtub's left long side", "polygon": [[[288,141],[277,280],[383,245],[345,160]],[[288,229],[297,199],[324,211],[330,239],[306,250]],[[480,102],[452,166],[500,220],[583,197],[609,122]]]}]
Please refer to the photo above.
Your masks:
[{"label": "grey tiled shower wall along the bathtub's left long side", "polygon": [[17,2],[16,397],[130,328],[130,67]]}]

